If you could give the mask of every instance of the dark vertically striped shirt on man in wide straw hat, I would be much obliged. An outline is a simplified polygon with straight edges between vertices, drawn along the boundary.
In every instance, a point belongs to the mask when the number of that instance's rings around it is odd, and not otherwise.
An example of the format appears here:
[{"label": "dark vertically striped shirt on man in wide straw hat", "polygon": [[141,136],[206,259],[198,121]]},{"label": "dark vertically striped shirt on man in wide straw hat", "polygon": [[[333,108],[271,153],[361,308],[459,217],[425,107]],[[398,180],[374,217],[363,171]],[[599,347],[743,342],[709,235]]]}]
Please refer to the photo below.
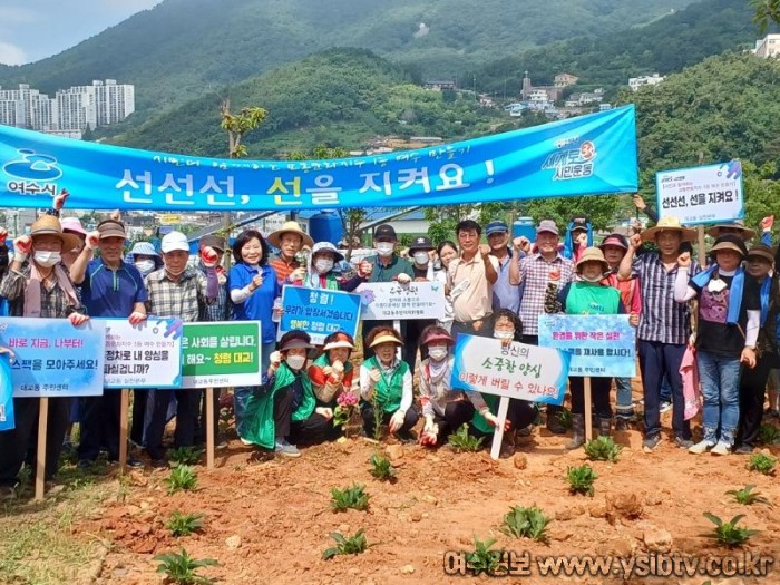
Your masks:
[{"label": "dark vertically striped shirt on man in wide straw hat", "polygon": [[[690,275],[699,273],[699,263],[691,261]],[[674,300],[676,264],[671,271],[661,262],[657,252],[646,252],[636,257],[633,274],[640,276],[642,316],[636,337],[643,341],[657,341],[682,345],[691,335],[691,312],[688,303]]]}]

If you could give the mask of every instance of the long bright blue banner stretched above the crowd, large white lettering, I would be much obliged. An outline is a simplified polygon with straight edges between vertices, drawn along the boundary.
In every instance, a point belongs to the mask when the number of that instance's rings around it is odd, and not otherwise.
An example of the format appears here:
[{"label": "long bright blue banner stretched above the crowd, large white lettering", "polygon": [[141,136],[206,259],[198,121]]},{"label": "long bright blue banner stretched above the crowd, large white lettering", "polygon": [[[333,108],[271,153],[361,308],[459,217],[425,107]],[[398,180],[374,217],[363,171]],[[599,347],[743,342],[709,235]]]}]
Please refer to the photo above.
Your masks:
[{"label": "long bright blue banner stretched above the crowd, large white lettering", "polygon": [[472,140],[333,160],[172,155],[0,126],[0,205],[75,209],[407,207],[637,189],[633,106]]}]

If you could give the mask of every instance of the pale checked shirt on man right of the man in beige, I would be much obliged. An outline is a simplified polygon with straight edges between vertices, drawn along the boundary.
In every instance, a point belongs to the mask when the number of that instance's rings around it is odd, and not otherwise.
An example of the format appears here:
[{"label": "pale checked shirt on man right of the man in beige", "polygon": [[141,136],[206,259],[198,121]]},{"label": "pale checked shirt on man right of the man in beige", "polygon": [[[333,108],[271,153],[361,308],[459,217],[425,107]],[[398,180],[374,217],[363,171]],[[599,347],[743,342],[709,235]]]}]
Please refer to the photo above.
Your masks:
[{"label": "pale checked shirt on man right of the man in beige", "polygon": [[550,272],[558,272],[558,290],[563,290],[572,282],[574,263],[563,257],[555,256],[553,262],[547,262],[542,254],[532,254],[520,260],[520,282],[525,285],[523,299],[520,299],[520,322],[524,335],[539,334],[539,315],[545,312],[545,295],[549,283]]}]

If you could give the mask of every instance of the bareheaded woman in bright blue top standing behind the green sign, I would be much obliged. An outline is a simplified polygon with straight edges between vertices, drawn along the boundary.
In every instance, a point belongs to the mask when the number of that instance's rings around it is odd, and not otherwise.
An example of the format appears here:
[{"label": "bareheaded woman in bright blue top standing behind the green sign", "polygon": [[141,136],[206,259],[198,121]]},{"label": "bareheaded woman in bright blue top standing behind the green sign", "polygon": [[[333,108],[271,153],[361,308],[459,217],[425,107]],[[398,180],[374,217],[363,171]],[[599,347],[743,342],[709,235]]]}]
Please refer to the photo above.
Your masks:
[{"label": "bareheaded woman in bright blue top standing behind the green sign", "polygon": [[[233,319],[236,321],[261,322],[261,371],[269,369],[271,353],[276,347],[276,323],[274,301],[281,296],[282,287],[276,273],[269,266],[269,248],[263,236],[256,230],[245,230],[233,244],[235,265],[228,277]],[[235,409],[235,428],[242,436],[244,410],[252,394],[251,387],[233,390]]]}]

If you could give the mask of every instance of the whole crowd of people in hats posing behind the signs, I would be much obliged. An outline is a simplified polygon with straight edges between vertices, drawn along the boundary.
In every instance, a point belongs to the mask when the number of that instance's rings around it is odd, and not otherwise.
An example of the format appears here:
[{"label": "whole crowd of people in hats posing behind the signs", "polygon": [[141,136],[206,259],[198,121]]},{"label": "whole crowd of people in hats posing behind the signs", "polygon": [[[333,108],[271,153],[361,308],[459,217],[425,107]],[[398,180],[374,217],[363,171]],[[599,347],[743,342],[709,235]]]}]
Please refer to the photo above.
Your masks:
[{"label": "whole crowd of people in hats posing behind the signs", "polygon": [[[360,410],[367,436],[387,426],[400,441],[436,446],[464,425],[475,436],[491,433],[500,423],[497,398],[464,392],[452,383],[455,338],[469,334],[493,337],[504,344],[538,344],[538,318],[545,313],[630,315],[638,340],[647,451],[661,440],[665,400],[672,404],[679,447],[694,454],[749,452],[761,423],[768,378],[780,367],[774,253],[766,243],[749,246],[755,234],[738,223],[710,231],[714,245],[708,266],[691,259],[695,232],[674,217],[663,217],[630,237],[608,234],[597,246],[586,217],[574,217],[563,236],[554,221],[543,220],[535,242],[513,238],[503,221],[490,222],[482,233],[477,222],[465,220],[457,225],[457,242],[435,246],[428,237],[417,237],[408,259],[399,254],[392,225],[383,224],[373,233],[376,255],[343,274],[337,267],[344,256],[333,244],[315,243],[296,222],[286,222],[267,237],[256,230],[238,234],[226,271],[223,257],[228,247],[223,237],[202,237],[195,262],[179,232],[165,235],[159,251],[140,242],[126,254],[127,234],[118,215],[87,233],[78,220],[60,221],[65,197],[56,198],[55,208],[32,224],[29,235],[14,241],[10,264],[7,234],[0,230],[0,296],[8,302],[9,314],[69,319],[75,326],[89,318],[124,318],[138,324],[147,315],[185,322],[260,321],[263,376],[255,386],[233,389],[235,429],[245,445],[283,456],[299,456],[300,445],[337,439],[343,427],[339,413],[353,407]],[[769,234],[771,221],[762,227]],[[273,257],[270,244],[279,251]],[[412,281],[445,285],[445,316],[396,325],[364,321],[360,364],[353,359],[355,340],[342,331],[329,335],[322,347],[299,330],[276,341],[283,312],[279,299],[285,285],[354,291],[367,282]],[[690,412],[686,416],[695,390],[689,376],[692,364],[698,365],[703,396],[703,436],[696,442]],[[610,435],[613,423],[626,428],[634,421],[632,381],[614,382],[613,416],[612,380],[592,379],[601,435]],[[569,378],[568,449],[584,442],[589,413],[583,387],[582,378]],[[78,412],[74,402],[50,400],[46,479],[57,469],[64,438],[76,418],[79,465],[88,466],[101,450],[109,460],[118,459],[118,393],[80,399]],[[0,486],[6,488],[16,484],[33,452],[38,401],[14,399],[14,410],[16,428],[0,432]],[[218,410],[214,409],[215,416]],[[164,466],[164,431],[170,418],[176,417],[174,446],[189,447],[204,441],[205,411],[197,390],[136,390],[130,438],[145,448],[153,466]],[[567,432],[560,411],[555,406],[545,409],[552,433]],[[535,404],[510,401],[504,455],[514,451],[516,435],[529,432],[539,416]],[[129,464],[143,465],[135,459]]]}]

